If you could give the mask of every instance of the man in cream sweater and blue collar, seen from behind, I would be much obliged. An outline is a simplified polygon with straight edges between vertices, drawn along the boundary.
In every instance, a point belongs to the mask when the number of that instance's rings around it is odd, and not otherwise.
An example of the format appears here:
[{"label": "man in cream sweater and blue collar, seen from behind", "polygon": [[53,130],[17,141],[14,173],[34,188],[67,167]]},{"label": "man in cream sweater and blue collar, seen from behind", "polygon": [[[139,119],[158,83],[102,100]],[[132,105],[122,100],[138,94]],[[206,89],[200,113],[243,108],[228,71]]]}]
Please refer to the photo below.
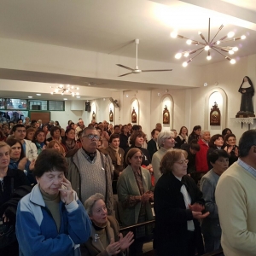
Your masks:
[{"label": "man in cream sweater and blue collar, seen from behind", "polygon": [[219,178],[215,197],[226,256],[256,253],[256,130],[239,141],[239,159]]}]

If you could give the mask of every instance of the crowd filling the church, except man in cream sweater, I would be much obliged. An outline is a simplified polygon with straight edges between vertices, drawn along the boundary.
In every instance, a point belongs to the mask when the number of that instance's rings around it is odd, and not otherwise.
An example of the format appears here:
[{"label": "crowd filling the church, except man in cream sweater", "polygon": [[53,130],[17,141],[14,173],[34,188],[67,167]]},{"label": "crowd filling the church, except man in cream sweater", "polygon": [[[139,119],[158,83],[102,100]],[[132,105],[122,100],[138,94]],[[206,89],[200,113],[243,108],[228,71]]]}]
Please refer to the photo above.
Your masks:
[{"label": "crowd filling the church, except man in cream sweater", "polygon": [[158,123],[148,141],[141,125],[79,119],[63,129],[58,121],[21,121],[0,128],[0,218],[16,227],[1,255],[140,255],[147,226],[124,236],[119,224],[152,219],[161,256],[221,247],[227,218],[218,214],[216,201],[225,201],[215,199],[218,180],[229,166],[253,166],[248,152],[242,165],[229,128],[211,136],[201,125],[189,134],[185,126],[166,131]]}]

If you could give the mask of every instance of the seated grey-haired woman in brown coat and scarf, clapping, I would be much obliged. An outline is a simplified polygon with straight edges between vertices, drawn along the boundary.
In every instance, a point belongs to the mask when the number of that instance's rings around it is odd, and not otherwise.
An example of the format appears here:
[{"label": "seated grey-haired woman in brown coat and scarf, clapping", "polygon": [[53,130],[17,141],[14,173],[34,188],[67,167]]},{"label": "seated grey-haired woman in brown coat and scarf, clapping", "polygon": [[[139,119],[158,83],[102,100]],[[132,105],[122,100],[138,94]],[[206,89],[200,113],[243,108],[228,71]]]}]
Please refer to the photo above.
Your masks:
[{"label": "seated grey-haired woman in brown coat and scarf, clapping", "polygon": [[123,256],[128,247],[134,241],[133,233],[129,232],[125,237],[119,234],[117,220],[108,215],[104,196],[100,193],[91,195],[84,207],[91,220],[90,238],[85,242],[83,254],[88,256]]}]

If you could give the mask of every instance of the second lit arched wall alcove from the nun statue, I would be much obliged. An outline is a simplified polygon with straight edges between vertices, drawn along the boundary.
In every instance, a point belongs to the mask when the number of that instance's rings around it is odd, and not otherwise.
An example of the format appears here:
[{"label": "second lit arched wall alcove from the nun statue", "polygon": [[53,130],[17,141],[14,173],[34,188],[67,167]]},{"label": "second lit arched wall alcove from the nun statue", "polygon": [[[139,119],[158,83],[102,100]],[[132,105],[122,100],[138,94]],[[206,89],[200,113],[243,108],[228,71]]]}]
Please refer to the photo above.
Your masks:
[{"label": "second lit arched wall alcove from the nun statue", "polygon": [[[170,113],[170,124],[164,124],[163,122],[165,108],[167,108]],[[160,98],[160,123],[162,124],[163,131],[170,131],[173,127],[173,99],[170,94],[165,94]]]}]

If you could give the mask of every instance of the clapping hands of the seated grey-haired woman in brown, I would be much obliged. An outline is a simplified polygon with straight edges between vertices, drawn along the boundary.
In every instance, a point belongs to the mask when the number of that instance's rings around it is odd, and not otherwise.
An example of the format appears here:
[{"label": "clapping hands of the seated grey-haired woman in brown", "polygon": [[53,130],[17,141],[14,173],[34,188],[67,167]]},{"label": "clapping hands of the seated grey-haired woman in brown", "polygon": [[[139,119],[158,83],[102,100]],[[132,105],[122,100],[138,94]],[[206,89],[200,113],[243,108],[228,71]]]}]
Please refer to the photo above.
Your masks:
[{"label": "clapping hands of the seated grey-haired woman in brown", "polygon": [[133,243],[133,233],[130,231],[127,233],[125,237],[123,237],[123,234],[119,234],[119,241],[113,241],[113,238],[110,240],[110,244],[106,248],[106,251],[108,255],[115,255],[120,252],[125,252],[125,250],[131,246]]}]

